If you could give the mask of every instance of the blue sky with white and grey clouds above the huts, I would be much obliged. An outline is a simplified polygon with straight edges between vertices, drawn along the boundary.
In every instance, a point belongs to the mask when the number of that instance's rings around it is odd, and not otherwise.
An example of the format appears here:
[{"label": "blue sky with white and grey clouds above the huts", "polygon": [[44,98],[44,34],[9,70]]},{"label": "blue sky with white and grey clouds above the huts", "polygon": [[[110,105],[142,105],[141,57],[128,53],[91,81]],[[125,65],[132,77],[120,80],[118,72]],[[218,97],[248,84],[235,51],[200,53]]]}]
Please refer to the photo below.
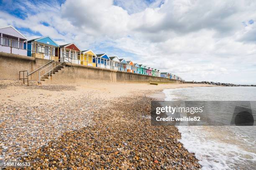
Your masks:
[{"label": "blue sky with white and grey clouds above the huts", "polygon": [[255,0],[0,0],[6,25],[185,80],[256,83]]}]

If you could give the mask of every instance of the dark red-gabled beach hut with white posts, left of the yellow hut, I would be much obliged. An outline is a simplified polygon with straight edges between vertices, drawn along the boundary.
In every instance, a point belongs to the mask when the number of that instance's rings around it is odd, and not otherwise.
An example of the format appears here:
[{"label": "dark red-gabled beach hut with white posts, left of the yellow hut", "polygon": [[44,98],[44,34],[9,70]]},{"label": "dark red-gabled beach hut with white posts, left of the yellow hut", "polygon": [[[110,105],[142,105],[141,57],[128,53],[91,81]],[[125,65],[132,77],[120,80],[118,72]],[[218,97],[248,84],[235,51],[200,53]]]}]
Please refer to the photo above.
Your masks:
[{"label": "dark red-gabled beach hut with white posts, left of the yellow hut", "polygon": [[81,50],[74,43],[60,45],[55,48],[55,56],[59,56],[58,60],[61,62],[72,62],[81,64],[79,61],[79,54]]}]

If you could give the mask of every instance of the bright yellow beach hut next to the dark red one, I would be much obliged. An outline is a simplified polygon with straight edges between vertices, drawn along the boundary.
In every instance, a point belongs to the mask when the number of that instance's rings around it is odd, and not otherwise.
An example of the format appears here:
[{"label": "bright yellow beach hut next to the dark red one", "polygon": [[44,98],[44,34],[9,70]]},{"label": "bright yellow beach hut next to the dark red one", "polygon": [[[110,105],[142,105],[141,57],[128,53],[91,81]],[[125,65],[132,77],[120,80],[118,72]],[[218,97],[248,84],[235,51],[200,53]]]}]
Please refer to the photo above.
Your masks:
[{"label": "bright yellow beach hut next to the dark red one", "polygon": [[89,65],[96,67],[96,62],[93,62],[93,58],[96,58],[97,55],[92,50],[83,50],[79,55],[81,65]]}]

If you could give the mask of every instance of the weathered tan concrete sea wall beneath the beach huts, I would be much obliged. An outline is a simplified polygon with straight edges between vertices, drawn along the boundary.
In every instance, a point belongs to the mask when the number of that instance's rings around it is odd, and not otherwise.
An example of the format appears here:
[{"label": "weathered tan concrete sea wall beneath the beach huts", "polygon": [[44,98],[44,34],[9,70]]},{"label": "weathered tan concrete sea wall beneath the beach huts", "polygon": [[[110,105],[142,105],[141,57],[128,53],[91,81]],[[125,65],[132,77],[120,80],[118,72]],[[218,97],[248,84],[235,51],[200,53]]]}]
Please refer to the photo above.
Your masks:
[{"label": "weathered tan concrete sea wall beneath the beach huts", "polygon": [[[0,52],[0,78],[18,80],[19,71],[28,70],[28,72],[32,72],[47,62],[49,60]],[[67,63],[67,66],[71,66],[71,63]],[[38,80],[38,73],[33,74],[30,79]],[[180,83],[178,80],[170,80],[162,77],[152,77],[77,64],[72,64],[72,67],[64,67],[64,69],[57,72],[50,80],[46,81],[46,83],[92,82]]]}]

